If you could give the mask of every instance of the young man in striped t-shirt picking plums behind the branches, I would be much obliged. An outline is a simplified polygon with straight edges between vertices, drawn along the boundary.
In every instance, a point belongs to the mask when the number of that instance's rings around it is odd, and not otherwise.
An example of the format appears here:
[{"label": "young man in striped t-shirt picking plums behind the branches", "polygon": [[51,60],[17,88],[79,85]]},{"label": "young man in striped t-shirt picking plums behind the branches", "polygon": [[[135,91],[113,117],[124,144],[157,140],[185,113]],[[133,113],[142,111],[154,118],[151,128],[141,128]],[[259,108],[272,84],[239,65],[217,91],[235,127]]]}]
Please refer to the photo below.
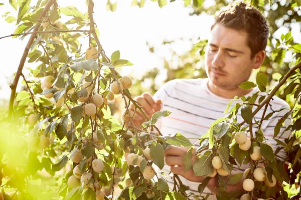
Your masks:
[{"label": "young man in striped t-shirt picking plums behind the branches", "polygon": [[[230,4],[216,13],[215,23],[211,27],[205,53],[208,78],[175,79],[164,84],[154,96],[143,93],[135,100],[143,106],[148,117],[159,110],[172,112],[170,116],[158,122],[163,134],[181,132],[187,138],[191,138],[191,141],[196,142],[197,140],[192,138],[200,138],[208,131],[213,121],[223,117],[228,102],[234,96],[250,96],[259,91],[257,88],[241,89],[238,85],[247,81],[252,70],[262,64],[267,38],[266,20],[257,9],[246,3]],[[231,105],[237,102],[242,103],[237,99]],[[271,101],[271,105],[273,110],[289,108],[285,101],[276,97]],[[278,119],[284,115],[285,109],[276,112],[261,126],[264,136],[274,146],[276,142],[272,139],[273,129]],[[130,110],[132,113],[133,105],[130,106]],[[266,114],[269,112],[272,112],[271,108]],[[255,119],[259,120],[262,113],[263,110],[260,110],[255,115]],[[139,126],[144,121],[143,115],[137,111],[134,115],[134,125]],[[243,121],[242,117],[238,115],[238,122],[241,121]],[[285,136],[282,135],[283,138]],[[186,152],[187,148],[170,147],[165,152],[166,164],[171,166],[170,170],[173,173],[187,179],[183,180],[184,184],[189,185],[192,191],[197,191],[197,186],[205,177],[196,176],[192,169],[185,173],[183,157]],[[279,153],[280,158],[283,159],[284,156],[284,152]],[[195,159],[196,156],[193,157],[193,161]],[[227,190],[242,190],[241,183],[242,181],[235,185],[227,185]],[[212,192],[215,191],[215,178],[211,178],[208,188]]]}]

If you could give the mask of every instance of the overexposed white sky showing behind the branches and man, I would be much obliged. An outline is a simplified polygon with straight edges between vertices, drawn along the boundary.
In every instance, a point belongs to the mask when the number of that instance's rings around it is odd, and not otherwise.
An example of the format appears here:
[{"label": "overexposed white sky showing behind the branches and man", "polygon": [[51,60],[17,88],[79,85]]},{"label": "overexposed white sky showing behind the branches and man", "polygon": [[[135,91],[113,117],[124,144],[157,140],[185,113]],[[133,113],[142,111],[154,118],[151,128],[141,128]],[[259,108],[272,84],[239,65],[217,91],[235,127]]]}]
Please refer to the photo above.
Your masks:
[{"label": "overexposed white sky showing behind the branches and man", "polygon": [[[35,3],[35,0],[32,0]],[[160,47],[164,39],[172,40],[184,38],[172,46],[178,54],[189,50],[191,44],[189,38],[197,41],[198,37],[207,38],[213,17],[207,15],[190,16],[192,8],[183,6],[184,1],[175,1],[160,8],[157,2],[147,0],[143,8],[130,6],[131,0],[118,1],[115,12],[106,10],[105,0],[95,0],[94,20],[100,30],[100,41],[108,56],[115,50],[119,50],[121,58],[128,59],[134,65],[124,67],[124,73],[134,70],[139,76],[145,70],[155,66],[163,66],[160,57],[168,56],[169,49],[160,48],[157,54],[151,54],[146,46],[146,41],[155,47]],[[74,5],[82,12],[87,10],[85,0],[58,0],[59,6]],[[16,16],[12,6],[5,2],[0,6],[0,14],[11,11],[10,15]],[[9,35],[16,28],[15,22],[7,23],[5,18],[0,18],[2,27],[0,36]],[[63,22],[66,20],[62,19]],[[0,99],[10,97],[8,80],[12,81],[12,74],[17,71],[22,53],[29,36],[24,40],[7,37],[0,39]],[[82,41],[87,44],[87,40]],[[86,46],[84,45],[83,49]],[[29,66],[26,64],[26,66]],[[22,78],[20,78],[22,80]]]}]

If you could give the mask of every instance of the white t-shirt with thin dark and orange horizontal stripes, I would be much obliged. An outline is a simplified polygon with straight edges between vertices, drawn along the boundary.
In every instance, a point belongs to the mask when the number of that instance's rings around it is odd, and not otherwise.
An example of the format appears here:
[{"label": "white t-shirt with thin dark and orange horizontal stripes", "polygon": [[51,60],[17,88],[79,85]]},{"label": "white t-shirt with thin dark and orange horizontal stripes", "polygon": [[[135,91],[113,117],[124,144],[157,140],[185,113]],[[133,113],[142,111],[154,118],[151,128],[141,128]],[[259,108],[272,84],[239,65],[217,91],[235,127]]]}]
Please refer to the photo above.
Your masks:
[{"label": "white t-shirt with thin dark and orange horizontal stripes", "polygon": [[[174,134],[180,132],[188,138],[200,138],[205,134],[210,124],[218,118],[225,116],[224,111],[227,104],[232,99],[220,97],[211,92],[207,85],[208,78],[197,79],[174,79],[165,83],[154,95],[154,99],[162,99],[163,105],[161,110],[169,110],[172,113],[164,118],[161,118],[156,124],[163,134]],[[258,88],[253,88],[251,92],[244,95],[245,97],[254,94],[259,91]],[[263,92],[259,92],[259,97],[265,95]],[[259,98],[258,97],[258,98]],[[230,109],[236,103],[242,103],[240,99],[233,100]],[[258,102],[258,101],[257,101]],[[275,149],[277,142],[273,139],[274,127],[277,121],[289,110],[289,105],[282,99],[274,96],[270,101],[271,106],[266,110],[265,115],[272,112],[271,108],[276,111],[284,108],[282,111],[275,112],[268,120],[264,120],[261,128],[264,132],[264,136],[268,139],[267,142],[274,145]],[[253,110],[256,106],[253,106]],[[229,110],[230,110],[229,109]],[[263,108],[255,115],[256,120],[260,120],[263,113]],[[240,111],[238,111],[237,122],[242,122]],[[287,119],[280,129],[279,135],[284,131],[285,127],[290,124],[290,119]],[[244,125],[247,125],[246,123]],[[256,128],[254,127],[254,132]],[[277,139],[284,140],[289,136],[289,132],[286,131]],[[196,143],[197,139],[190,139],[192,143]],[[198,142],[197,142],[198,143]],[[198,144],[195,145],[198,148]],[[277,156],[280,159],[285,158],[285,152],[280,151]],[[169,167],[165,167],[165,170],[169,170]],[[244,170],[244,169],[236,169]],[[191,191],[197,192],[198,185],[200,183],[191,182],[184,178],[183,183],[190,186]],[[169,180],[167,180],[169,182]],[[173,183],[172,181],[170,181]],[[204,190],[204,194],[210,192],[209,189]],[[210,199],[215,199],[211,197]]]}]

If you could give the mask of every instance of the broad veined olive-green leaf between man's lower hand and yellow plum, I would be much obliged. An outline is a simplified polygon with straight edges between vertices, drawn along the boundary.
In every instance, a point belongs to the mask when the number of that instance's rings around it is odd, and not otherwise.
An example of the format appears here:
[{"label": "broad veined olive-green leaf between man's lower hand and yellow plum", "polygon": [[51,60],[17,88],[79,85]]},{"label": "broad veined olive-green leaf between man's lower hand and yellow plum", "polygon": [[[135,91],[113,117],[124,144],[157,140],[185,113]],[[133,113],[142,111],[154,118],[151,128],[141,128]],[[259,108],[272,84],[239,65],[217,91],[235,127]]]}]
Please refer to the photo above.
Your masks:
[{"label": "broad veined olive-green leaf between man's lower hand and yellow plum", "polygon": [[213,172],[211,151],[206,151],[200,155],[196,162],[193,164],[193,171],[195,175],[208,175]]}]

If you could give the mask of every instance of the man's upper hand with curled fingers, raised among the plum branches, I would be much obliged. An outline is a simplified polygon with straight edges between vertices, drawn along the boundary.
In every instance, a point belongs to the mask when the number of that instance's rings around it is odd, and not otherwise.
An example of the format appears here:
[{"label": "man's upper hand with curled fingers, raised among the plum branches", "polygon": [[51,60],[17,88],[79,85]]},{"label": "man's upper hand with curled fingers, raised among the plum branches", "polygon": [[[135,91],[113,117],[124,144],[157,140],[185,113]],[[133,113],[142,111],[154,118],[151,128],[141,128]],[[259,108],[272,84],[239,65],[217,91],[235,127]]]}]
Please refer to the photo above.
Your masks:
[{"label": "man's upper hand with curled fingers, raised among the plum branches", "polygon": [[[136,96],[134,100],[137,101],[140,106],[142,106],[142,110],[148,118],[150,118],[155,112],[161,110],[162,100],[154,100],[153,96],[150,93],[144,92],[141,95]],[[131,103],[128,108],[130,116],[133,116],[133,123],[135,127],[139,127],[143,122],[145,122],[145,118],[140,110],[138,110],[138,108],[133,115],[133,112],[135,110],[135,105],[133,103]],[[124,117],[125,112],[126,110],[124,109],[122,111],[122,117]],[[123,118],[123,120],[125,120],[125,126],[128,126],[130,122],[129,114],[127,113]]]}]

